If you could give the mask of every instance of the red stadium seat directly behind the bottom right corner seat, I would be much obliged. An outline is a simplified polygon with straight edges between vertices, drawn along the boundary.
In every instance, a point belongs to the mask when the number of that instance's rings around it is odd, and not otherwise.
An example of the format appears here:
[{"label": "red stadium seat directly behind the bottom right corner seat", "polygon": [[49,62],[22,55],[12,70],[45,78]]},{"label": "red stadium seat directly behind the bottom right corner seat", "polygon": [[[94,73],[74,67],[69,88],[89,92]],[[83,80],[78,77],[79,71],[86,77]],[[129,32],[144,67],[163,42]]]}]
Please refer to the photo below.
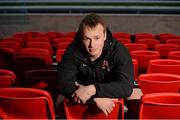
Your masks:
[{"label": "red stadium seat directly behind the bottom right corner seat", "polygon": [[165,73],[141,74],[138,84],[143,94],[157,92],[178,92],[180,89],[180,76]]}]

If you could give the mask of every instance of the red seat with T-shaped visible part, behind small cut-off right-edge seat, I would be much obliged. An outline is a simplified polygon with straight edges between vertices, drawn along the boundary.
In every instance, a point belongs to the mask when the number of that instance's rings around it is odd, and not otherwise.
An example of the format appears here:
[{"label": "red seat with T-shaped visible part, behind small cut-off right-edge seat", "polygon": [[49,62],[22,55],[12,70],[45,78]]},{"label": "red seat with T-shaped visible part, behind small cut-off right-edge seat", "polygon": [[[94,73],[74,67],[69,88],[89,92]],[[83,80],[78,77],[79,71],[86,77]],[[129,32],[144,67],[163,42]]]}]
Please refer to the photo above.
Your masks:
[{"label": "red seat with T-shaped visible part, behind small cut-off right-edge seat", "polygon": [[155,46],[155,51],[160,52],[161,58],[168,58],[168,53],[170,51],[176,51],[179,50],[179,45],[175,44],[158,44]]}]

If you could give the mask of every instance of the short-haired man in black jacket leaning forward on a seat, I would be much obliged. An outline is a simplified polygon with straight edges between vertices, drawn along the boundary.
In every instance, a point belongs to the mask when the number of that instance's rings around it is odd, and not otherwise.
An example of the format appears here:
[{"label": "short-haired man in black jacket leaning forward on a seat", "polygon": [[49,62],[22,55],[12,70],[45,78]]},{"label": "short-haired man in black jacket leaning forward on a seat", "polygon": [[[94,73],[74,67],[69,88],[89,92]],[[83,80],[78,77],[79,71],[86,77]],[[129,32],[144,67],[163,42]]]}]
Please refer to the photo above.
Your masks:
[{"label": "short-haired man in black jacket leaning forward on a seat", "polygon": [[128,50],[112,38],[103,19],[87,15],[58,65],[58,92],[77,103],[93,100],[106,115],[111,98],[126,98],[133,90],[133,64]]}]

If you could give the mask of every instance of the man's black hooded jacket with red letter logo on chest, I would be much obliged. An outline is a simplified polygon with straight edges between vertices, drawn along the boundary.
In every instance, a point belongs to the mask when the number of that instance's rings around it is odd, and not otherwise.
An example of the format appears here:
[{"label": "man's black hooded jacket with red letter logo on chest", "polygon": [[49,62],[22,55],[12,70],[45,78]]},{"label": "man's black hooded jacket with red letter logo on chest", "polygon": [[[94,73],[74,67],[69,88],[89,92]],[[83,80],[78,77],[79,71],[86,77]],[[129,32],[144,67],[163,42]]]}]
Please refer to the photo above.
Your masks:
[{"label": "man's black hooded jacket with red letter logo on chest", "polygon": [[87,57],[79,32],[66,49],[58,64],[59,93],[71,95],[77,87],[94,84],[95,97],[125,98],[131,95],[134,82],[133,64],[130,54],[122,44],[112,38],[107,29],[102,55],[93,63]]}]

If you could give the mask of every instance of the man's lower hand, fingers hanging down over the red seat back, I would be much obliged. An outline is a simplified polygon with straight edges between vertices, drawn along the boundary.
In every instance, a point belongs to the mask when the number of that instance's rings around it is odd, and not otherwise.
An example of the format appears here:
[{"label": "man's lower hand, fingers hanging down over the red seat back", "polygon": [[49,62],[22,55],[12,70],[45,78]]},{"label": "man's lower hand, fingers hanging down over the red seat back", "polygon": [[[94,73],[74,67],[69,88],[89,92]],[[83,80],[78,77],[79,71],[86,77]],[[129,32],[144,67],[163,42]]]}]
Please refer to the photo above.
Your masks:
[{"label": "man's lower hand, fingers hanging down over the red seat back", "polygon": [[114,109],[115,104],[110,98],[94,98],[97,107],[107,116]]}]

